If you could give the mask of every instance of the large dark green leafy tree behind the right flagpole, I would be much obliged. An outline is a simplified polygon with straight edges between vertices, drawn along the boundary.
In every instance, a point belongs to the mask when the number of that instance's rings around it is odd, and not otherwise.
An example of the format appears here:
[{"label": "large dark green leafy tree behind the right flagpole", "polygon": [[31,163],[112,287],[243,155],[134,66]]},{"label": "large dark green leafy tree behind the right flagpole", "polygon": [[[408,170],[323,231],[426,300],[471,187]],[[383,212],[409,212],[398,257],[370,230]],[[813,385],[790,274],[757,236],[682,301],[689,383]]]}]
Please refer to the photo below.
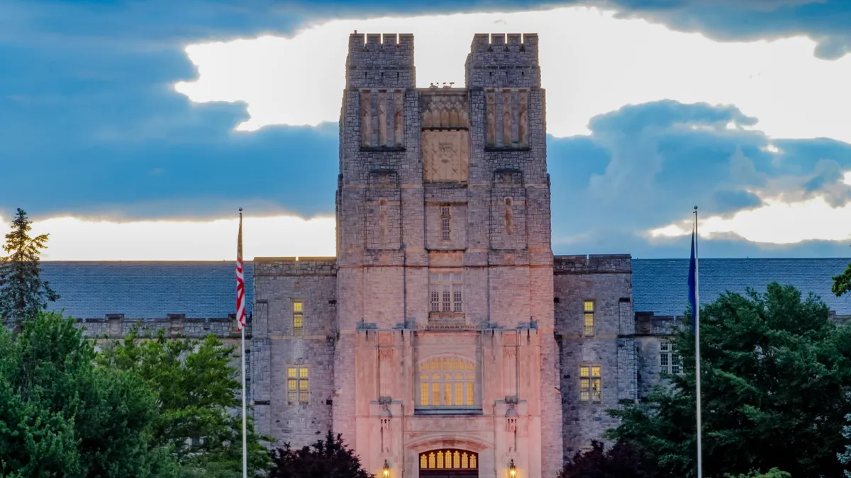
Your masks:
[{"label": "large dark green leafy tree behind the right flagpole", "polygon": [[[851,413],[851,333],[827,306],[794,287],[726,293],[700,312],[703,464],[706,476],[782,469],[842,476],[843,417]],[[607,436],[656,457],[662,476],[695,475],[694,335],[675,344],[683,375],[643,404],[609,411]]]}]

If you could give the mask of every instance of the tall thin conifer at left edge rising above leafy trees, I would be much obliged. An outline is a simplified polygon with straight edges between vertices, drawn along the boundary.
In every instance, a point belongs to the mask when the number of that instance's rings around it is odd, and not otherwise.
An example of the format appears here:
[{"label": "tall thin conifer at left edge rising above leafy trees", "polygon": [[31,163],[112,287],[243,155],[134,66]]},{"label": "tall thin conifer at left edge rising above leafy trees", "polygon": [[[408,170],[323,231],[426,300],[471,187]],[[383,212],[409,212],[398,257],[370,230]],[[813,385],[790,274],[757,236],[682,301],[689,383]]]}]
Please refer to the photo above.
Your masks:
[{"label": "tall thin conifer at left edge rising above leafy trees", "polygon": [[39,277],[38,256],[47,247],[49,235],[30,237],[30,224],[26,212],[18,208],[3,246],[9,255],[0,258],[0,318],[6,324],[31,320],[49,301],[60,298]]}]

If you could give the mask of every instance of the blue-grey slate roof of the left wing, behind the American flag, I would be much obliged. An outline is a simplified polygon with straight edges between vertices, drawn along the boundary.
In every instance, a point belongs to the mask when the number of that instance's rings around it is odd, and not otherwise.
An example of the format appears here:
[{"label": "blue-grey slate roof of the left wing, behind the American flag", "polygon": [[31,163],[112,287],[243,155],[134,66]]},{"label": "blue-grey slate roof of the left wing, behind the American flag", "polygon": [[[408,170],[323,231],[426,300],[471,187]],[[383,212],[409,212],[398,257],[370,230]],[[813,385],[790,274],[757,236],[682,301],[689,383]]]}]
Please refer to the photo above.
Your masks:
[{"label": "blue-grey slate roof of the left wing, behind the American flag", "polygon": [[[42,278],[60,299],[51,309],[77,318],[226,318],[237,311],[236,264],[221,262],[43,262]],[[245,263],[247,314],[254,264]]]}]

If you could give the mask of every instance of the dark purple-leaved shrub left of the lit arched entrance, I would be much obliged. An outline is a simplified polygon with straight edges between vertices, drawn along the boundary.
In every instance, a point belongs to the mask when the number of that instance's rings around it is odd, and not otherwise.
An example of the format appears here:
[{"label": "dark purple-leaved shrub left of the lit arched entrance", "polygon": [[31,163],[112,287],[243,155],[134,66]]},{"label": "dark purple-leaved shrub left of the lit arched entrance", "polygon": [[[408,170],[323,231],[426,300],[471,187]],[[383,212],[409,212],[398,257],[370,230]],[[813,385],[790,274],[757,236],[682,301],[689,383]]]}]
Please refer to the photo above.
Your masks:
[{"label": "dark purple-leaved shrub left of the lit arched entrance", "polygon": [[289,443],[271,452],[268,478],[374,478],[361,466],[360,458],[330,431],[325,440],[294,450]]}]

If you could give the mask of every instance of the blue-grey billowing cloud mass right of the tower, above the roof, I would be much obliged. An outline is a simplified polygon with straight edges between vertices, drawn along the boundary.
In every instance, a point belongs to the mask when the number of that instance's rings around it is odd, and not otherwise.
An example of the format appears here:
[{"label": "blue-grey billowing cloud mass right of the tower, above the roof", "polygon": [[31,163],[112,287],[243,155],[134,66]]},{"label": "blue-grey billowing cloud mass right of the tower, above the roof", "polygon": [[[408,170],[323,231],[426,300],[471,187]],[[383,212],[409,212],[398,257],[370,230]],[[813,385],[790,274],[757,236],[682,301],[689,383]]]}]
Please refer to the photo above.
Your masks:
[{"label": "blue-grey billowing cloud mass right of the tower, above the roof", "polygon": [[[705,218],[759,207],[751,191],[784,201],[825,196],[834,206],[851,200],[842,184],[851,145],[769,140],[740,128],[756,119],[733,106],[663,100],[594,117],[591,136],[550,138],[553,249],[671,257],[688,251],[688,238],[651,241],[644,233],[690,220],[694,205]],[[731,122],[737,126],[728,128]],[[706,243],[711,257],[848,253],[831,242],[773,246],[729,236]]]}]

